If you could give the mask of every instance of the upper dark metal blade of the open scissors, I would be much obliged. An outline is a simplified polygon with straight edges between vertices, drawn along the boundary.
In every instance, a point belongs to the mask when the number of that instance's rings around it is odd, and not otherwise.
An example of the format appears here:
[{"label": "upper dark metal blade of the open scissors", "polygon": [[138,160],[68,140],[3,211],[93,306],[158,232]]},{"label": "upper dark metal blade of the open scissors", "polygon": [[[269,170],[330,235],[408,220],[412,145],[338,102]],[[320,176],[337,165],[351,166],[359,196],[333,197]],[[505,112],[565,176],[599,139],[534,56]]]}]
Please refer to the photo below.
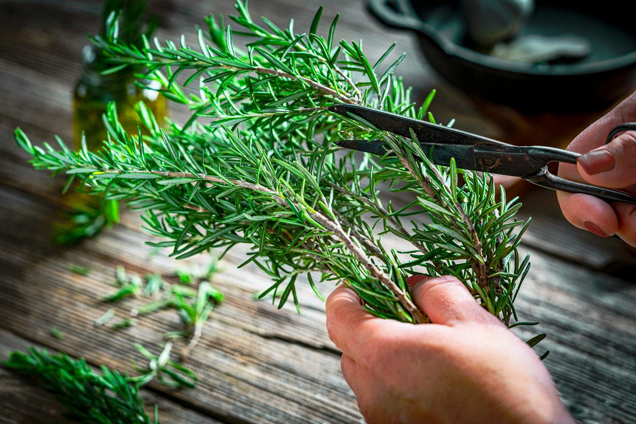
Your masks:
[{"label": "upper dark metal blade of the open scissors", "polygon": [[473,146],[500,145],[508,146],[501,141],[481,137],[466,131],[455,130],[425,121],[407,118],[406,116],[378,111],[370,107],[355,104],[336,104],[329,106],[329,111],[349,118],[349,114],[354,114],[363,118],[380,130],[388,131],[402,137],[411,138],[410,128],[413,129],[419,142],[429,142],[436,144],[471,144]]}]

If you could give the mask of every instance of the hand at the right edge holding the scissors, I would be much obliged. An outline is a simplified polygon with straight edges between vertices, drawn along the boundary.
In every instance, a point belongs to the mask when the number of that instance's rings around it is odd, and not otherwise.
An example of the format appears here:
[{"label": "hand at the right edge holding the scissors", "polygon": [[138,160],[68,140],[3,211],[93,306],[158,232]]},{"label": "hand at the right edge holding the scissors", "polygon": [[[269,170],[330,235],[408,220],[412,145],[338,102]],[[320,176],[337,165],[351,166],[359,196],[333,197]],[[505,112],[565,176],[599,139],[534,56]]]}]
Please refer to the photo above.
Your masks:
[{"label": "hand at the right edge holding the scissors", "polygon": [[[572,140],[567,149],[585,154],[576,165],[560,163],[558,175],[636,194],[636,132],[624,132],[605,145],[605,137],[614,127],[632,121],[636,121],[636,92]],[[618,234],[636,246],[636,205],[610,205],[594,196],[562,191],[556,195],[572,225],[602,237]]]}]

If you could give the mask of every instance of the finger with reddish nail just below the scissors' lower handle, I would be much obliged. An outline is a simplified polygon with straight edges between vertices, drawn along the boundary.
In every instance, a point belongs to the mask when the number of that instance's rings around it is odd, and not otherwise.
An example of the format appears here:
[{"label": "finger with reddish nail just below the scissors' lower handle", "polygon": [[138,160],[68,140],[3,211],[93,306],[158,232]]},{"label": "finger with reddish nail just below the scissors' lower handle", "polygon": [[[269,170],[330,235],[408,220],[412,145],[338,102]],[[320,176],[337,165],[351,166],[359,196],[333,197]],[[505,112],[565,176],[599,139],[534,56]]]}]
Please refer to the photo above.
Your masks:
[{"label": "finger with reddish nail just below the scissors' lower handle", "polygon": [[594,196],[563,191],[557,191],[556,198],[563,216],[575,227],[601,237],[614,235],[618,231],[618,215],[609,203]]}]

